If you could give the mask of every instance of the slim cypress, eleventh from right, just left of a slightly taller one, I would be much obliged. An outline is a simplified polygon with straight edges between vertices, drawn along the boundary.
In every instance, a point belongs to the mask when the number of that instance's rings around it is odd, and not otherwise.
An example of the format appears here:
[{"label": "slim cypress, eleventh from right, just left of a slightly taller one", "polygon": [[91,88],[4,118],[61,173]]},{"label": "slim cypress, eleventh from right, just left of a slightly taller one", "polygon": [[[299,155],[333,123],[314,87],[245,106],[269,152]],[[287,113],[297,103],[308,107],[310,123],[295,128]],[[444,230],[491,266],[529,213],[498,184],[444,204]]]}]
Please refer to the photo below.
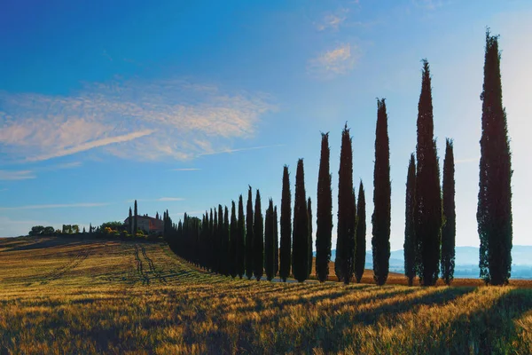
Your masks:
[{"label": "slim cypress, eleventh from right, just left of a slightly taller one", "polygon": [[283,168],[283,193],[281,197],[281,252],[279,255],[279,277],[286,281],[292,265],[292,193],[288,166]]}]

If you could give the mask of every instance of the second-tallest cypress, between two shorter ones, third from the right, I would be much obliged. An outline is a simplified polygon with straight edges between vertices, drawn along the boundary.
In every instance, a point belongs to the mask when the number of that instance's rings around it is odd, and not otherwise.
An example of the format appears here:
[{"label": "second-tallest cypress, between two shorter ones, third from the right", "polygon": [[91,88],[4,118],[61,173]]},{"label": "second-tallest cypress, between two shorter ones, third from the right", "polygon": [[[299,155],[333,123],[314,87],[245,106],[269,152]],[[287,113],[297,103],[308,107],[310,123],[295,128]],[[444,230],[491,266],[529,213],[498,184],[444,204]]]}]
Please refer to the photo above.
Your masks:
[{"label": "second-tallest cypress, between two shorter ones, third from the right", "polygon": [[416,173],[416,241],[420,263],[419,279],[433,286],[440,272],[442,243],[442,192],[436,142],[430,69],[423,60],[421,94],[418,105],[418,171]]}]

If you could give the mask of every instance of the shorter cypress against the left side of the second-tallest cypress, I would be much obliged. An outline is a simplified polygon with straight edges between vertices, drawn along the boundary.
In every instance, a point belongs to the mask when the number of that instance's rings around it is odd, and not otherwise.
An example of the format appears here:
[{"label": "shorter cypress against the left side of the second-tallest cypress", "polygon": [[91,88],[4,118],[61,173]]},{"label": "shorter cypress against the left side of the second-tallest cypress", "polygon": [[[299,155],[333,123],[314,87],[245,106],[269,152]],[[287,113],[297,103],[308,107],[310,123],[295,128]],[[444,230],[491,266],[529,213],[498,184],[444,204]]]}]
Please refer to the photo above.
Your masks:
[{"label": "shorter cypress against the left side of the second-tallest cypress", "polygon": [[408,175],[406,177],[406,197],[404,208],[404,275],[408,278],[408,285],[412,286],[416,277],[416,221],[414,212],[416,210],[416,159],[411,154],[408,165]]}]

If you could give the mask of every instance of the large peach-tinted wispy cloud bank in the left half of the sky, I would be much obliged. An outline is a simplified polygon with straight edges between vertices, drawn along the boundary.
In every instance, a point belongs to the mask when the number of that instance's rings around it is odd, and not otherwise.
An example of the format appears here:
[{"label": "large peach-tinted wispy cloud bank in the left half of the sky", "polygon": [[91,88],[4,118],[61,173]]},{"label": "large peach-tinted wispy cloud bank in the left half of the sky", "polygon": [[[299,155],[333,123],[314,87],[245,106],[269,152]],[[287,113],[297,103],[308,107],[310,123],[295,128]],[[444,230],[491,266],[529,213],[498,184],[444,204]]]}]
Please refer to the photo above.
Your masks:
[{"label": "large peach-tinted wispy cloud bank in the left half of the sky", "polygon": [[182,80],[86,84],[71,96],[0,91],[3,159],[44,161],[100,148],[141,161],[187,160],[254,137],[269,95]]}]

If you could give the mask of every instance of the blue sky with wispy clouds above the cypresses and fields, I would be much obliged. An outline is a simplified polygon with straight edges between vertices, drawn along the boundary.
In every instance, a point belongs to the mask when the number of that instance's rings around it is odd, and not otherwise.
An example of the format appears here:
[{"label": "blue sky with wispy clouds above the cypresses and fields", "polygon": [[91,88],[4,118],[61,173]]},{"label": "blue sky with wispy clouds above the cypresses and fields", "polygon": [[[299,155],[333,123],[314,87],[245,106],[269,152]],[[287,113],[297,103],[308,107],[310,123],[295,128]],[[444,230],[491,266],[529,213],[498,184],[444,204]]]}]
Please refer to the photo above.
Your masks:
[{"label": "blue sky with wispy clouds above the cypresses and fields", "polygon": [[530,245],[530,18],[527,0],[8,0],[0,12],[0,236],[121,220],[133,199],[141,214],[199,216],[229,206],[247,185],[261,190],[263,206],[268,197],[280,204],[283,165],[293,184],[300,157],[316,206],[320,131],[330,131],[336,205],[347,121],[369,242],[379,97],[388,110],[391,244],[402,248],[426,58],[441,166],[445,138],[455,141],[457,244],[478,246],[489,26],[503,50],[513,242]]}]

